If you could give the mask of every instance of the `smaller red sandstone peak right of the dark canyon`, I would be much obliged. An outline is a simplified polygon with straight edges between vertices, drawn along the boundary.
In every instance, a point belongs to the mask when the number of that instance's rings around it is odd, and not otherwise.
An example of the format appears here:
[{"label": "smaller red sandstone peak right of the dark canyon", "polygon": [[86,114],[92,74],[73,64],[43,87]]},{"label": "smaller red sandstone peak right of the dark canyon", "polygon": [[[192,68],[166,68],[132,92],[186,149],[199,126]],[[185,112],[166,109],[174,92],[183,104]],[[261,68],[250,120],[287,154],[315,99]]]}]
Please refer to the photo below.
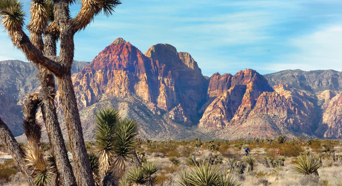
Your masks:
[{"label": "smaller red sandstone peak right of the dark canyon", "polygon": [[244,121],[256,99],[265,91],[273,89],[262,75],[252,69],[239,71],[234,76],[213,74],[199,127],[222,129],[228,123]]}]

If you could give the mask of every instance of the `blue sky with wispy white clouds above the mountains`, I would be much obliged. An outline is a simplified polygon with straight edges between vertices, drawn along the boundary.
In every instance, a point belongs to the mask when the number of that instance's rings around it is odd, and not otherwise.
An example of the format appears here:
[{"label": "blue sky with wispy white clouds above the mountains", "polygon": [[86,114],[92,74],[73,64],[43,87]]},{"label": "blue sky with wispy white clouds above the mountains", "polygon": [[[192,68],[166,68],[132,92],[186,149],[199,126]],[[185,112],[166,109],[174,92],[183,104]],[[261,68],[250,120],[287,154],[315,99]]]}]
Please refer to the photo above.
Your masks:
[{"label": "blue sky with wispy white clouds above the mountains", "polygon": [[[28,12],[28,0],[23,0]],[[122,37],[143,53],[158,43],[188,52],[202,74],[285,69],[342,71],[342,0],[121,0],[75,35],[77,61]],[[80,5],[71,5],[75,16]],[[29,21],[29,13],[26,23]],[[0,30],[4,30],[3,27]],[[0,61],[27,61],[0,32]]]}]

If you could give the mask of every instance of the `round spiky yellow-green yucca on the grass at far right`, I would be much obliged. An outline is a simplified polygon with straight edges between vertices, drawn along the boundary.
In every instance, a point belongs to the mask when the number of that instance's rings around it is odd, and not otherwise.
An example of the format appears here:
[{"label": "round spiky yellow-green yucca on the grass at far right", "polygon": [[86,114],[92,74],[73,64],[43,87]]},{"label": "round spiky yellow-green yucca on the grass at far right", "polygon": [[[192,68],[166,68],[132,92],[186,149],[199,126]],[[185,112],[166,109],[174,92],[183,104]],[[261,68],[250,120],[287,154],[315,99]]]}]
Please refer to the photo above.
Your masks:
[{"label": "round spiky yellow-green yucca on the grass at far right", "polygon": [[302,155],[297,157],[297,161],[294,163],[292,169],[297,171],[298,174],[314,174],[318,176],[317,169],[321,166],[322,164],[319,163],[319,161],[317,161],[314,157]]}]

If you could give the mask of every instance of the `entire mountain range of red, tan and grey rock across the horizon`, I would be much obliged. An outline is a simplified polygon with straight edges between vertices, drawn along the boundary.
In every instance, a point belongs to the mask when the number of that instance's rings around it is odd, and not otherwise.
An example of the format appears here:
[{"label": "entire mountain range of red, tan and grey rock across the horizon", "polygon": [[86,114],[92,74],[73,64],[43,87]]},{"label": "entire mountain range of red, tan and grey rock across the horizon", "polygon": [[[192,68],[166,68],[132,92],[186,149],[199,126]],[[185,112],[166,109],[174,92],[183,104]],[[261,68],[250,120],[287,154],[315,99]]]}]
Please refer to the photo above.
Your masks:
[{"label": "entire mountain range of red, tan and grey rock across the horizon", "polygon": [[[21,135],[20,100],[39,87],[37,71],[15,60],[0,62],[0,73],[0,117]],[[91,63],[75,61],[73,73],[86,140],[102,107],[138,121],[140,134],[151,139],[342,138],[342,72],[245,69],[209,78],[187,52],[157,44],[143,54],[118,38]],[[58,94],[56,104],[66,135]]]}]

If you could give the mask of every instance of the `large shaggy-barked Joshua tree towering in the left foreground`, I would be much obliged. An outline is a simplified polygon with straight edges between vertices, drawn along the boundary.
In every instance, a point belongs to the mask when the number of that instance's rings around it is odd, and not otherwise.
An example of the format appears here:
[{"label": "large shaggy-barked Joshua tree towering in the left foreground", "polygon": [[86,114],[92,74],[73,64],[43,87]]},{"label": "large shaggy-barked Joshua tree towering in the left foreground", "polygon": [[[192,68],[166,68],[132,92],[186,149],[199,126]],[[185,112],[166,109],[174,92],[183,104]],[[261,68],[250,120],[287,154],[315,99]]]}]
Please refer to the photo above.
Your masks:
[{"label": "large shaggy-barked Joshua tree towering in the left foreground", "polygon": [[[27,26],[30,38],[23,31],[23,4],[17,0],[0,0],[1,24],[11,38],[13,45],[22,50],[26,58],[39,70],[42,84],[40,101],[45,125],[51,147],[56,159],[57,171],[65,185],[75,185],[75,177],[68,163],[62,133],[55,114],[54,81],[56,77],[58,91],[61,95],[62,110],[69,136],[70,151],[73,153],[77,185],[93,186],[94,180],[90,161],[84,145],[81,122],[76,97],[71,81],[71,64],[74,58],[74,35],[85,29],[94,16],[103,11],[109,16],[120,4],[119,0],[82,0],[81,10],[74,18],[70,17],[69,5],[72,0],[33,0],[30,8],[31,20]],[[60,40],[60,56],[56,57],[56,41]],[[11,140],[10,131],[1,122],[1,136],[16,158],[22,158],[16,149],[16,141]],[[10,144],[12,142],[12,144]],[[23,163],[17,159],[16,163]],[[22,167],[23,165],[18,165]],[[23,171],[22,171],[23,172]],[[25,175],[25,171],[23,172]],[[26,176],[25,176],[26,177]],[[27,182],[30,184],[30,180]]]}]

